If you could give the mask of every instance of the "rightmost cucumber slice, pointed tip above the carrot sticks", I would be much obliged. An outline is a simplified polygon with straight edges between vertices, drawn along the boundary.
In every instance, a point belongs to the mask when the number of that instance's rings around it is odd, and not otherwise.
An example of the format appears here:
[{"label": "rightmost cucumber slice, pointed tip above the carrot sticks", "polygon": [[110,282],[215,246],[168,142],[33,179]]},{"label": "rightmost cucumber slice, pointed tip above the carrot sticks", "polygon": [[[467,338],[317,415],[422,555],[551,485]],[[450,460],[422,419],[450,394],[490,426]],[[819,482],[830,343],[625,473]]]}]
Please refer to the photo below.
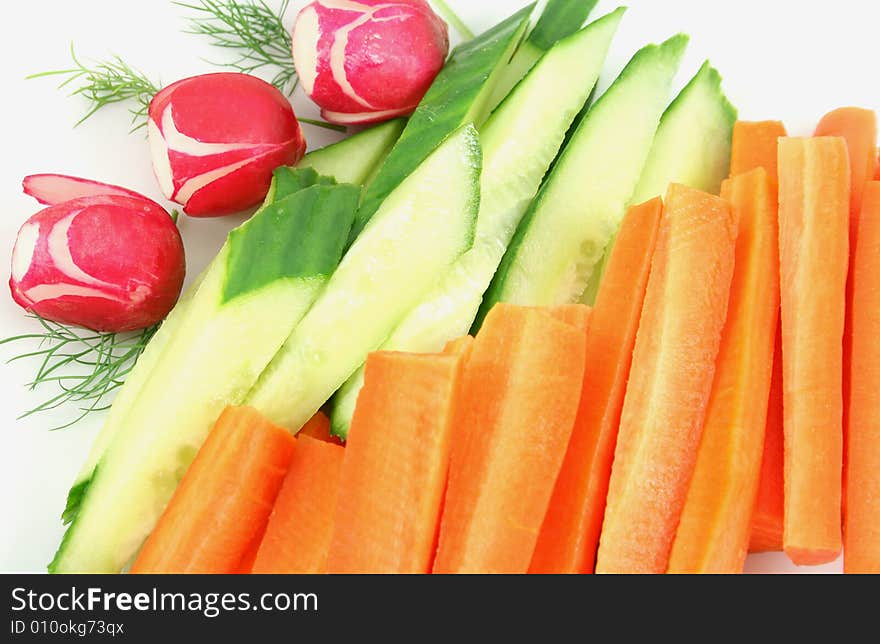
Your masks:
[{"label": "rightmost cucumber slice, pointed tip above the carrot sticks", "polygon": [[[630,203],[662,197],[670,183],[718,194],[730,173],[730,142],[736,108],[721,90],[721,75],[706,61],[672,104],[657,128],[651,154]],[[605,249],[582,301],[593,304],[614,240]]]}]

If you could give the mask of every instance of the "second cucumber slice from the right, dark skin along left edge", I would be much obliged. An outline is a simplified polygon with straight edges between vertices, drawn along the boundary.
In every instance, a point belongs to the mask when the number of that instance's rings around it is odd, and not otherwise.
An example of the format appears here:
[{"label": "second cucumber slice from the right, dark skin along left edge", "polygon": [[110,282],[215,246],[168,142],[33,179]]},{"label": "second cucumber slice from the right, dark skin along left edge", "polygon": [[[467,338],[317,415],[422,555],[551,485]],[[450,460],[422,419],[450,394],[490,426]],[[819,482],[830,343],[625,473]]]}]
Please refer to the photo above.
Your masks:
[{"label": "second cucumber slice from the right, dark skin along left edge", "polygon": [[480,307],[576,302],[645,165],[687,37],[649,45],[578,127],[520,222]]}]

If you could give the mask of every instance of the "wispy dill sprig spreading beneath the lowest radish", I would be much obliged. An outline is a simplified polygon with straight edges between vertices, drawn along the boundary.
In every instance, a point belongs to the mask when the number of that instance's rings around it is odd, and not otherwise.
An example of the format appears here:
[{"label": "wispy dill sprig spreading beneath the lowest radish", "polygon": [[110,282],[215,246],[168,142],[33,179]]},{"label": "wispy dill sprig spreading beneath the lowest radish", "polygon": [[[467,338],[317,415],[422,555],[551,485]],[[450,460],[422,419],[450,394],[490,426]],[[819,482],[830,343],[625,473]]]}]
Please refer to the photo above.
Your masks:
[{"label": "wispy dill sprig spreading beneath the lowest radish", "polygon": [[143,353],[158,326],[130,333],[100,333],[69,327],[31,314],[42,329],[5,340],[0,345],[37,341],[37,347],[20,353],[8,362],[33,359],[38,361],[36,374],[27,383],[31,391],[41,385],[52,385],[57,393],[19,416],[55,409],[67,403],[80,404],[79,415],[54,427],[64,429],[82,420],[91,412],[109,407],[109,394],[125,382],[137,359]]}]

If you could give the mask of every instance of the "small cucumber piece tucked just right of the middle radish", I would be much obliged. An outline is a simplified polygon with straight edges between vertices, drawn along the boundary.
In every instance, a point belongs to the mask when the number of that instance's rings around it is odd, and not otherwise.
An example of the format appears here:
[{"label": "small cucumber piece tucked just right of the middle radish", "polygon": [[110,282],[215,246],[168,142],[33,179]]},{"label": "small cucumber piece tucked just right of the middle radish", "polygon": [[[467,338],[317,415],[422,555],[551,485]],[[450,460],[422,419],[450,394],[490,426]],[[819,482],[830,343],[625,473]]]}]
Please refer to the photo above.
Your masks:
[{"label": "small cucumber piece tucked just right of the middle radish", "polygon": [[400,138],[405,125],[404,119],[376,125],[339,143],[309,152],[297,167],[313,168],[340,183],[366,185]]}]

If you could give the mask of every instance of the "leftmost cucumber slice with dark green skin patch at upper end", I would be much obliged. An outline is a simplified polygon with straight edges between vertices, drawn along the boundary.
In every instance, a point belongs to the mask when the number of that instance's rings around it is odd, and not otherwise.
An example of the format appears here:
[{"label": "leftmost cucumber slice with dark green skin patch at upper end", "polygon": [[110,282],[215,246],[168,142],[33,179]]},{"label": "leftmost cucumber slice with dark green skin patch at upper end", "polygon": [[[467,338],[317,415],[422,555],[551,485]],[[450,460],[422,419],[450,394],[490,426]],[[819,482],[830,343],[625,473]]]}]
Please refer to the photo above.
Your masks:
[{"label": "leftmost cucumber slice with dark green skin patch at upper end", "polygon": [[230,234],[161,356],[111,415],[103,454],[71,492],[78,507],[51,572],[118,572],[128,563],[223,407],[244,398],[329,279],[360,190],[298,172],[316,185]]}]

